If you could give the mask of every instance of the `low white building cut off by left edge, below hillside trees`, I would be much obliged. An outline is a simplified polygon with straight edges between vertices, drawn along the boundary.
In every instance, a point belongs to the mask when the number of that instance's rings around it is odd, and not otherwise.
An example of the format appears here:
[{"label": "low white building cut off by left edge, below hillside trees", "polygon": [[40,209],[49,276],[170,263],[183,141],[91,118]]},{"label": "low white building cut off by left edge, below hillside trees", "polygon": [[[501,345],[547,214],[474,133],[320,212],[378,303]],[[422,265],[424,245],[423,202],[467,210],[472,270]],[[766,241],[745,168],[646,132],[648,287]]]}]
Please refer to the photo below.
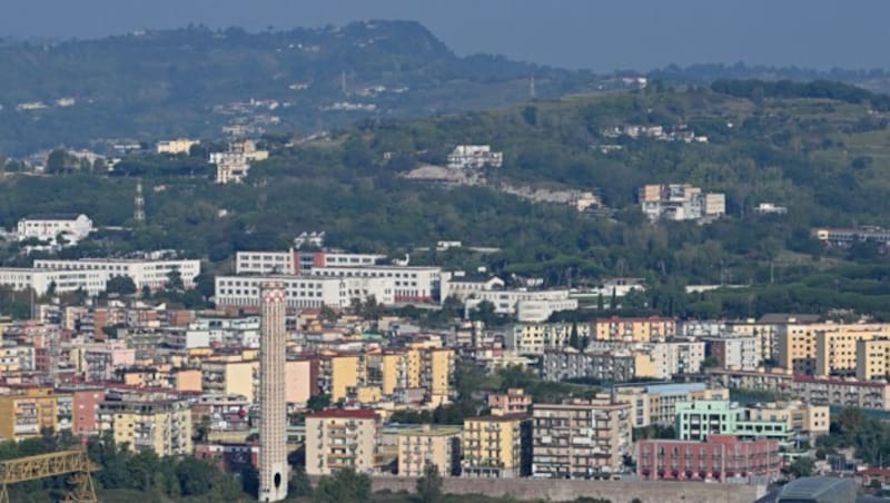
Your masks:
[{"label": "low white building cut off by left edge, below hillside trees", "polygon": [[107,277],[98,270],[47,270],[40,268],[0,268],[0,286],[17,292],[33,288],[34,294],[44,295],[53,286],[63,294],[81,289],[88,295],[105,290]]}]

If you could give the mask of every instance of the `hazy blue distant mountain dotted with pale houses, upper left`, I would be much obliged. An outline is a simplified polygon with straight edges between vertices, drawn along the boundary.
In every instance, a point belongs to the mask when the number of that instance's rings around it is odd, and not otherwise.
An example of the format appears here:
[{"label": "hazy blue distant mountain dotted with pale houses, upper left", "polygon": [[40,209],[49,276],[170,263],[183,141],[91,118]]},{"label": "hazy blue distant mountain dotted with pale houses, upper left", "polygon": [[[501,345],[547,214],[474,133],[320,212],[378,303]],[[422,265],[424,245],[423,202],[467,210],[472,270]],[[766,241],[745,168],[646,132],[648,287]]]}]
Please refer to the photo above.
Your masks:
[{"label": "hazy blue distant mountain dotted with pale houses, upper left", "polygon": [[[189,27],[0,43],[0,155],[106,140],[316,131],[609,86],[586,71],[454,55],[409,21],[249,33]],[[620,82],[620,81],[619,81]]]}]

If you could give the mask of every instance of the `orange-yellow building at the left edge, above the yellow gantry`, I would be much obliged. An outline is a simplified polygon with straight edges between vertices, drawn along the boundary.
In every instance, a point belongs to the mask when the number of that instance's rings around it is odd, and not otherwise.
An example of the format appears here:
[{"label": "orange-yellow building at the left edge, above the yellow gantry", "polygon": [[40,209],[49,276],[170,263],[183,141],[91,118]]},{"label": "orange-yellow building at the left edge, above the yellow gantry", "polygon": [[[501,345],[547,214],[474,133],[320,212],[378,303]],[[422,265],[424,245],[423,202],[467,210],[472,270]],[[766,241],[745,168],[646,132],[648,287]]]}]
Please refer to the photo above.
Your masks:
[{"label": "orange-yellow building at the left edge, above the yellow gantry", "polygon": [[24,387],[0,395],[0,440],[40,436],[58,427],[59,404],[51,387]]}]

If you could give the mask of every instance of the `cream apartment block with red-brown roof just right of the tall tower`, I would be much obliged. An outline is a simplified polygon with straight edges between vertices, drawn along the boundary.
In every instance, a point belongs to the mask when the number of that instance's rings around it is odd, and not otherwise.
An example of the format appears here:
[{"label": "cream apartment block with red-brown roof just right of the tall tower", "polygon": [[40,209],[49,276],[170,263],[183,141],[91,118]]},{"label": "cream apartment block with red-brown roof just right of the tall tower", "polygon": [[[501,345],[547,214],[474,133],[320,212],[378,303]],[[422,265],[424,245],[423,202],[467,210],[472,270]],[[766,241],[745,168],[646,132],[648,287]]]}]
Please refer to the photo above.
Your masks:
[{"label": "cream apartment block with red-brown roof just right of the tall tower", "polygon": [[373,473],[380,464],[382,422],[374,411],[330,408],[306,415],[306,473]]}]

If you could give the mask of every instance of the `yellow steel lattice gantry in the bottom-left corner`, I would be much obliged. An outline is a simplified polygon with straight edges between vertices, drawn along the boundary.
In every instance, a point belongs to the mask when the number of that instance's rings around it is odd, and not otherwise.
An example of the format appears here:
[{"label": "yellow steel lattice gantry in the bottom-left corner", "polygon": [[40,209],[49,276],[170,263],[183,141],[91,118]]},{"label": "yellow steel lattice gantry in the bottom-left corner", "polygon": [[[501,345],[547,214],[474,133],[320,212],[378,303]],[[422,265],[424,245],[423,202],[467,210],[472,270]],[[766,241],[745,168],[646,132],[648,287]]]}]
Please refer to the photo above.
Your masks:
[{"label": "yellow steel lattice gantry in the bottom-left corner", "polygon": [[10,503],[10,484],[68,474],[71,476],[66,502],[98,502],[90,476],[90,472],[96,470],[98,466],[87,457],[86,451],[62,451],[0,462],[0,503]]}]

